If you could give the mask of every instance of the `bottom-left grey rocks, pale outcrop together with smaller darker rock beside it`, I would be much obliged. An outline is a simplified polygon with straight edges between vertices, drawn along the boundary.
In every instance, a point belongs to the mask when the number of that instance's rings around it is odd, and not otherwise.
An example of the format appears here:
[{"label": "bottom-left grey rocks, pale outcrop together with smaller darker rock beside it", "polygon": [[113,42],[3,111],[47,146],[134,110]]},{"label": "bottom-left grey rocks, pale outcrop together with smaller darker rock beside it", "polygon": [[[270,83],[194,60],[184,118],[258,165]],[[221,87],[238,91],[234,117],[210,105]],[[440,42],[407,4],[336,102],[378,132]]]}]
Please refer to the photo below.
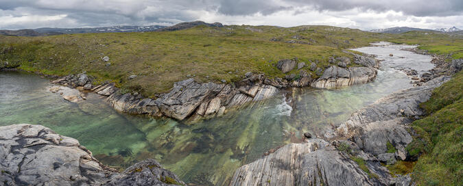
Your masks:
[{"label": "bottom-left grey rocks, pale outcrop together with smaller darker rock beside it", "polygon": [[0,127],[0,183],[4,185],[185,185],[153,159],[117,172],[78,140],[47,127]]}]

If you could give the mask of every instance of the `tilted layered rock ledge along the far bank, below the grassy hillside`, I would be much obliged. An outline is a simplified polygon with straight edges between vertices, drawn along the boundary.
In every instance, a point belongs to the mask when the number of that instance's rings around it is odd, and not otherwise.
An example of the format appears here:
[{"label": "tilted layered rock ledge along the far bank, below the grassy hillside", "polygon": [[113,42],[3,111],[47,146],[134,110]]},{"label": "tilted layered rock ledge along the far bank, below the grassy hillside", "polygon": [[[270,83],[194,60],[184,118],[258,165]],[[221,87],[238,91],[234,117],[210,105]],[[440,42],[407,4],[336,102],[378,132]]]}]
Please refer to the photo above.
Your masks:
[{"label": "tilted layered rock ledge along the far bank, below the grassy hillside", "polygon": [[[281,88],[309,85],[315,88],[339,88],[374,80],[379,61],[370,56],[352,54],[355,56],[355,64],[366,67],[331,66],[319,79],[313,79],[305,70],[300,70],[298,78],[295,78],[295,75],[287,75],[285,79],[269,79],[265,75],[253,75],[248,72],[245,79],[232,84],[198,83],[194,79],[186,79],[174,83],[174,88],[169,93],[158,95],[155,100],[144,98],[138,93],[121,94],[119,89],[115,88],[114,83],[104,83],[93,87],[91,79],[85,74],[69,75],[52,81],[52,83],[60,83],[108,96],[106,101],[112,107],[128,114],[149,114],[177,120],[187,118],[195,120],[221,116],[230,107],[270,98]],[[343,60],[342,63],[350,63],[348,58]],[[296,59],[285,59],[278,62],[277,67],[287,71],[296,68],[296,64]],[[303,67],[305,63],[300,62],[297,66]],[[72,100],[78,101],[79,96]]]}]

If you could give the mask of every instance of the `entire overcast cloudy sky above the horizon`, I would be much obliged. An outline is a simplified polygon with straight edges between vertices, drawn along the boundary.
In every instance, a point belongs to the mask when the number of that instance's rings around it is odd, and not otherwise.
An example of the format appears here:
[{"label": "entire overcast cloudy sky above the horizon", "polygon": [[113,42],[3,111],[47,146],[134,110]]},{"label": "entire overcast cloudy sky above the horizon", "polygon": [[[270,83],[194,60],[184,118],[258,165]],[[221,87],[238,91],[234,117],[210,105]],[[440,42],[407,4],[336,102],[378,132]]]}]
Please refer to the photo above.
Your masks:
[{"label": "entire overcast cloudy sky above the horizon", "polygon": [[463,0],[0,0],[0,29],[173,25],[459,27]]}]

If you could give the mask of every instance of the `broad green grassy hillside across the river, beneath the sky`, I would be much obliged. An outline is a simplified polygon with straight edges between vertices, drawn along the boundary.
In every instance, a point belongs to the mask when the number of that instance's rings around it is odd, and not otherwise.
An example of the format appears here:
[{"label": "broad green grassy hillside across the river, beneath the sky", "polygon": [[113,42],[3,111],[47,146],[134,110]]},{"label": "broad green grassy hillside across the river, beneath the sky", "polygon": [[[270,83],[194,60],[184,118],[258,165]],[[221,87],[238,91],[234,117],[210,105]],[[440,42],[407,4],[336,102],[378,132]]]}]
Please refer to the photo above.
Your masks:
[{"label": "broad green grassy hillside across the river, beneath the sky", "polygon": [[[462,38],[410,34],[378,34],[359,29],[329,26],[291,28],[270,26],[198,26],[180,31],[147,33],[69,34],[46,37],[0,36],[0,62],[20,64],[19,68],[49,75],[69,75],[86,71],[95,83],[113,81],[126,90],[154,97],[167,92],[176,81],[193,77],[196,81],[222,79],[238,81],[246,72],[284,77],[275,64],[297,57],[311,72],[311,62],[320,68],[331,66],[329,57],[347,56],[343,49],[367,46],[370,42],[429,44],[439,47],[455,41],[462,55]],[[437,45],[436,45],[437,44]],[[453,47],[453,46],[451,46]],[[459,48],[460,47],[460,48]],[[429,48],[429,49],[431,49]],[[432,48],[434,49],[434,48]],[[452,48],[453,49],[453,48]],[[102,58],[110,60],[104,62]],[[110,63],[110,64],[108,64]],[[287,74],[298,73],[293,70]],[[138,75],[128,80],[130,75]],[[311,72],[316,77],[315,72]]]}]

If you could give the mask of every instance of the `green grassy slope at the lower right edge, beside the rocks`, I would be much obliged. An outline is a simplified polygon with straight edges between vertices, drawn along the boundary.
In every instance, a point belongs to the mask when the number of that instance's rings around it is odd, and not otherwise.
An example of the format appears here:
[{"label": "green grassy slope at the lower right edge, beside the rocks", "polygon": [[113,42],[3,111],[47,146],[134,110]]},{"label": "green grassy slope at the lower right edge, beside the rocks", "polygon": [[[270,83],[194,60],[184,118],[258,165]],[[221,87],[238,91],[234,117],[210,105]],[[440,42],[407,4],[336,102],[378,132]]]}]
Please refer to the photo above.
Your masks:
[{"label": "green grassy slope at the lower right edge, beside the rocks", "polygon": [[463,177],[463,72],[434,90],[421,106],[429,116],[413,122],[418,133],[407,146],[418,156],[412,178],[418,185],[460,185]]}]

